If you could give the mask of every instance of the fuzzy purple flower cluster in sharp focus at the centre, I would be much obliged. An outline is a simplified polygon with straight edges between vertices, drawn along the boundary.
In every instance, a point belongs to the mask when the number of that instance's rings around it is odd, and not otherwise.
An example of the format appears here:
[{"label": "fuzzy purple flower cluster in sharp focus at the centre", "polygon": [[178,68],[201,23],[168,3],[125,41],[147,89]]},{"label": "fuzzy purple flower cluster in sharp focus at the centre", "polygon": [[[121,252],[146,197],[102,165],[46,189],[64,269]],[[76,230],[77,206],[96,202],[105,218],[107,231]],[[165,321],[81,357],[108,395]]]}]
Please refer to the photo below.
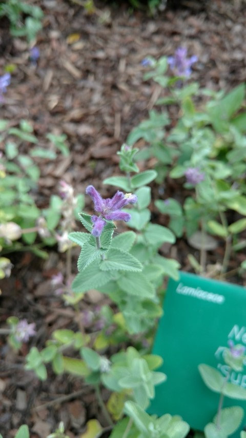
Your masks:
[{"label": "fuzzy purple flower cluster in sharp focus at the centre", "polygon": [[[124,195],[124,193],[119,191],[116,192],[113,198],[103,199],[93,185],[87,187],[86,194],[93,200],[94,210],[107,220],[124,220],[128,222],[131,219],[131,215],[122,212],[121,208],[137,202],[136,195],[131,193]],[[105,225],[104,220],[100,216],[97,218],[95,215],[92,216],[91,220],[94,223],[92,235],[99,237]]]}]

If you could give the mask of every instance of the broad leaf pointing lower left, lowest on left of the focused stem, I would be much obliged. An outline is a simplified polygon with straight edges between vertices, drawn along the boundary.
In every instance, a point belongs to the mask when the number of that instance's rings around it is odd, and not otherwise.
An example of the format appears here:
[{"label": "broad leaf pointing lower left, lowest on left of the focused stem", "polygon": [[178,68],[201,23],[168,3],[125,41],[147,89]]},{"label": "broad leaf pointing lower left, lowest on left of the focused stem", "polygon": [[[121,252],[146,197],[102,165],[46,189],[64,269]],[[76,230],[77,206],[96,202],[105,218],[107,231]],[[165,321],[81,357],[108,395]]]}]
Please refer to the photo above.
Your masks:
[{"label": "broad leaf pointing lower left, lowest on left of the focused stem", "polygon": [[92,262],[87,268],[76,275],[72,282],[72,290],[75,293],[86,292],[89,289],[96,289],[108,283],[112,279],[110,271],[99,269],[99,260]]}]

